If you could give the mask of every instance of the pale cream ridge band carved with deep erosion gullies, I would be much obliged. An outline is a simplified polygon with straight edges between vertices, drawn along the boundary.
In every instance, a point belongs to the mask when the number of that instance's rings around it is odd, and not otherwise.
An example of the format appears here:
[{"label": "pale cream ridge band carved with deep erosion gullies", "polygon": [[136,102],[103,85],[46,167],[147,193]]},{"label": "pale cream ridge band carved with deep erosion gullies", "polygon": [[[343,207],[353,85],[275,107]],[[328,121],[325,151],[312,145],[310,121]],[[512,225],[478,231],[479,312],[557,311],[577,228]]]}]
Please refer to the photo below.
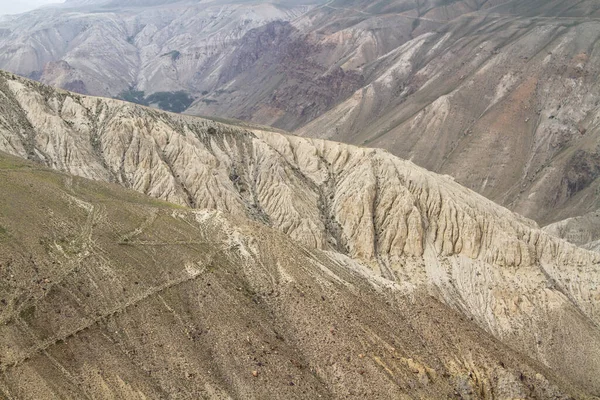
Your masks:
[{"label": "pale cream ridge band carved with deep erosion gullies", "polygon": [[167,114],[0,75],[0,150],[276,228],[426,291],[600,393],[600,255],[382,150]]}]

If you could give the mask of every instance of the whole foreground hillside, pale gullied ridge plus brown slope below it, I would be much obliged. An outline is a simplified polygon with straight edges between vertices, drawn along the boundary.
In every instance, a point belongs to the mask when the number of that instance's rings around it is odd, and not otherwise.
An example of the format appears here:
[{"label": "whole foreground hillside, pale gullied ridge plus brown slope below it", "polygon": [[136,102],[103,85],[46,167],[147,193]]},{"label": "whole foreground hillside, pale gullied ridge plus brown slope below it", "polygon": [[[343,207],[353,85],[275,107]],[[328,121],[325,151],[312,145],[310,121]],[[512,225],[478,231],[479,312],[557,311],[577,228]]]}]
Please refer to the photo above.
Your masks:
[{"label": "whole foreground hillside, pale gullied ridge plus brown slope below it", "polygon": [[0,151],[6,398],[600,395],[600,255],[449,176],[9,73]]}]

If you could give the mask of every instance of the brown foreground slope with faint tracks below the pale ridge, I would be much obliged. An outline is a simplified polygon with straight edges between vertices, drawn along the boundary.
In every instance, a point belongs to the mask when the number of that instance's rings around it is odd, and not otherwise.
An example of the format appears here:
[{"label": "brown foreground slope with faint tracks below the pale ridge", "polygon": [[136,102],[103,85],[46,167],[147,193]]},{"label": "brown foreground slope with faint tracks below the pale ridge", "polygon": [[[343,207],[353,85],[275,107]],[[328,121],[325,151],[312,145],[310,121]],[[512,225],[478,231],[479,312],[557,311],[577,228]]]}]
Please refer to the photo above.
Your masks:
[{"label": "brown foreground slope with faint tracks below the pale ridge", "polygon": [[0,153],[0,397],[583,396],[424,293]]}]

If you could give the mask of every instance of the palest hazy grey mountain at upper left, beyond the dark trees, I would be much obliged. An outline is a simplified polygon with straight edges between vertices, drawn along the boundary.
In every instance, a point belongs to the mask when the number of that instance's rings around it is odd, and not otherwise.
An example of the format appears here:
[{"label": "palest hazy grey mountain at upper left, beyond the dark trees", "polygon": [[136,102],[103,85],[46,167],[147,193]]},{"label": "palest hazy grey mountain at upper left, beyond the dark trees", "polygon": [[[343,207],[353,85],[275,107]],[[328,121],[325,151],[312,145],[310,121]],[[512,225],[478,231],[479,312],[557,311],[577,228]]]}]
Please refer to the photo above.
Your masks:
[{"label": "palest hazy grey mountain at upper left, beyond the dark trees", "polygon": [[69,2],[0,21],[0,67],[94,95],[199,95],[246,32],[312,7],[277,3]]}]

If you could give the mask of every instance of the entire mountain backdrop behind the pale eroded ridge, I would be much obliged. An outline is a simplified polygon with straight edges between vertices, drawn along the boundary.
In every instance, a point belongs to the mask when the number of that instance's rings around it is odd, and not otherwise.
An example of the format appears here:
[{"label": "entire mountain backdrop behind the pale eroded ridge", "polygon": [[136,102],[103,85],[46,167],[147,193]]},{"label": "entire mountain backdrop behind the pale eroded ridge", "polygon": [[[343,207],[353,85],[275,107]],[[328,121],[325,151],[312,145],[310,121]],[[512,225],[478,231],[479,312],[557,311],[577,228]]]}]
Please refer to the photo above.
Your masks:
[{"label": "entire mountain backdrop behind the pale eroded ridge", "polygon": [[141,4],[7,18],[0,67],[382,147],[542,225],[600,207],[596,1]]}]

